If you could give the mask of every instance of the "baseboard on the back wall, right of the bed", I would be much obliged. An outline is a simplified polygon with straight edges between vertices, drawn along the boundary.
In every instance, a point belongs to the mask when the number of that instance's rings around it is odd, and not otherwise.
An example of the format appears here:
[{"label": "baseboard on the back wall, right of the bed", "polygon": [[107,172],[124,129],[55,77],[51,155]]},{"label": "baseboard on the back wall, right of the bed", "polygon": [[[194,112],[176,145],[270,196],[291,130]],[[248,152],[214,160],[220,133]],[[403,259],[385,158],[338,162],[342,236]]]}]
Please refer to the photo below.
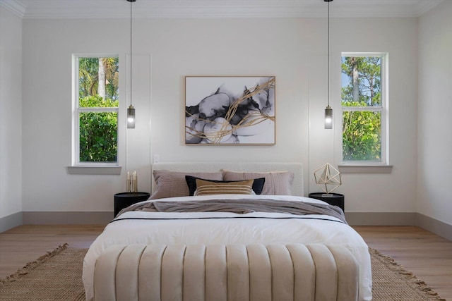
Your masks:
[{"label": "baseboard on the back wall, right of the bed", "polygon": [[416,226],[415,212],[345,212],[355,226]]}]

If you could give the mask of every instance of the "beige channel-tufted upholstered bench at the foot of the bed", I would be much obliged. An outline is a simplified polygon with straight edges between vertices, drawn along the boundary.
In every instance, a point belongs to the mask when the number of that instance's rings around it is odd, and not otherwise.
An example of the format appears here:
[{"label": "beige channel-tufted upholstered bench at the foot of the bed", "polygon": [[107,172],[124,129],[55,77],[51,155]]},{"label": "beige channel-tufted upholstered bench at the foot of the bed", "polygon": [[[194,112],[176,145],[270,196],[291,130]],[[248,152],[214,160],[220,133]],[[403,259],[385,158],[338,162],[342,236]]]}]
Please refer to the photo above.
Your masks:
[{"label": "beige channel-tufted upholstered bench at the foot of the bed", "polygon": [[358,298],[358,264],[343,246],[113,245],[95,264],[95,300]]}]

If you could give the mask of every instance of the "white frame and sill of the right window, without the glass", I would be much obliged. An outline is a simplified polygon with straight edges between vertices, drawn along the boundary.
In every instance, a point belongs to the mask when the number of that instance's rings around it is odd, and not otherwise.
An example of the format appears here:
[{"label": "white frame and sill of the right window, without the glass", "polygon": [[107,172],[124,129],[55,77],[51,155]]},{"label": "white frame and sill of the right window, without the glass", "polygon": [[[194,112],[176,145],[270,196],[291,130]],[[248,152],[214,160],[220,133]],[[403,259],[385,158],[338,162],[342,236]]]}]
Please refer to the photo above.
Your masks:
[{"label": "white frame and sill of the right window, without the glass", "polygon": [[[393,166],[389,164],[389,146],[388,146],[388,53],[387,52],[343,52],[343,56],[381,56],[381,106],[342,106],[339,94],[339,107],[337,118],[338,147],[336,152],[336,161],[341,173],[391,173]],[[339,68],[341,72],[341,68]],[[339,87],[342,87],[339,84]],[[343,161],[343,135],[342,135],[342,117],[344,111],[381,111],[381,161]]]}]

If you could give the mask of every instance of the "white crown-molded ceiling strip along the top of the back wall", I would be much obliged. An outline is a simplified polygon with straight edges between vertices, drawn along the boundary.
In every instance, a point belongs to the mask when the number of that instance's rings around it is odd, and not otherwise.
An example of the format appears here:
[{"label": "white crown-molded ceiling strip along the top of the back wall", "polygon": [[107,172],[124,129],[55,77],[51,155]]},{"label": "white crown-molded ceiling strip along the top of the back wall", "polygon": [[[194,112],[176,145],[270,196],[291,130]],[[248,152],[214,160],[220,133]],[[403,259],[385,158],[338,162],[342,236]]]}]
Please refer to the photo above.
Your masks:
[{"label": "white crown-molded ceiling strip along the top of the back wall", "polygon": [[[417,17],[441,1],[335,0],[332,18]],[[0,0],[22,18],[127,18],[126,0]],[[323,0],[136,0],[133,18],[316,18],[325,17]]]}]

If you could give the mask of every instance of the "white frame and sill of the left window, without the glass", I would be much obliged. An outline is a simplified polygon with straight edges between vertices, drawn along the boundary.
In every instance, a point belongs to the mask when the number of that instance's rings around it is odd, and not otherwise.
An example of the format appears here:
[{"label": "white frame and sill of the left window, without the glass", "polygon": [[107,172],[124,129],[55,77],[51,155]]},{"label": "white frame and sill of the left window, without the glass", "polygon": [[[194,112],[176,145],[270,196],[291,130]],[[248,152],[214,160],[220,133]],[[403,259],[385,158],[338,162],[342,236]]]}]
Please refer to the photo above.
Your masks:
[{"label": "white frame and sill of the left window, without the glass", "polygon": [[118,57],[117,54],[73,54],[72,55],[72,163],[68,167],[70,174],[106,174],[118,175],[121,173],[119,166],[119,145],[116,162],[81,162],[80,161],[80,121],[81,112],[117,112],[118,113],[118,141],[119,144],[119,107],[117,108],[79,108],[78,107],[78,59],[85,57]]}]

